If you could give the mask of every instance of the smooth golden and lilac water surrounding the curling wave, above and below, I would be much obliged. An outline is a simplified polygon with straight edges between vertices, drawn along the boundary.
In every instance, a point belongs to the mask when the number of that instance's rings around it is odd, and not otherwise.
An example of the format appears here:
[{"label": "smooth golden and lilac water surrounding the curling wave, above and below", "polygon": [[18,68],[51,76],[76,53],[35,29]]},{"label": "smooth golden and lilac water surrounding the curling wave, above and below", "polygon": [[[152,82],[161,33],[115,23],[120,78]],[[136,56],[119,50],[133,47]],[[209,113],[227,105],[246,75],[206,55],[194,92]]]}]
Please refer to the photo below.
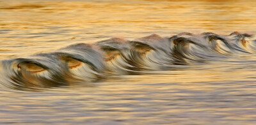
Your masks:
[{"label": "smooth golden and lilac water surrounding the curling wave, above and below", "polygon": [[[0,58],[111,37],[255,33],[254,1],[0,1]],[[256,124],[256,57],[40,92],[0,91],[0,124]]]}]

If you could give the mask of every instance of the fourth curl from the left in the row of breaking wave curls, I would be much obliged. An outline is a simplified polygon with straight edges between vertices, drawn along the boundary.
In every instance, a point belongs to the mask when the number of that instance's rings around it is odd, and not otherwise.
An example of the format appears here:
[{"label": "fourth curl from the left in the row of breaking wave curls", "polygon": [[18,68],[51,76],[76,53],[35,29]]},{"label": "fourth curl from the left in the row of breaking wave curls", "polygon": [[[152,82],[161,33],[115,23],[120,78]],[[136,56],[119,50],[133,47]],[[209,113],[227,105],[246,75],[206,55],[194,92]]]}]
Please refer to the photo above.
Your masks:
[{"label": "fourth curl from the left in the row of breaking wave curls", "polygon": [[131,61],[145,70],[164,70],[170,67],[170,42],[157,34],[130,41]]}]

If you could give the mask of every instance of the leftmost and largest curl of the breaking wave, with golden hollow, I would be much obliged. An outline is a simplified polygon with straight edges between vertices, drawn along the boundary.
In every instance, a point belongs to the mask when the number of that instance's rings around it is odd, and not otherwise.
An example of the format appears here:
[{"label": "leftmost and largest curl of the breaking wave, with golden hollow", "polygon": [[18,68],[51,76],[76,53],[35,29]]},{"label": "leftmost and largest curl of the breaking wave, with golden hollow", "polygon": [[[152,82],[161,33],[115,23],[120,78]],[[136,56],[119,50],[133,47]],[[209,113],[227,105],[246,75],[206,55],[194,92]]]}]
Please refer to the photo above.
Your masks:
[{"label": "leftmost and largest curl of the breaking wave, with golden hollow", "polygon": [[[52,54],[33,55],[1,61],[1,84],[8,87],[48,87],[65,85],[66,68]],[[14,86],[13,86],[14,85]]]}]

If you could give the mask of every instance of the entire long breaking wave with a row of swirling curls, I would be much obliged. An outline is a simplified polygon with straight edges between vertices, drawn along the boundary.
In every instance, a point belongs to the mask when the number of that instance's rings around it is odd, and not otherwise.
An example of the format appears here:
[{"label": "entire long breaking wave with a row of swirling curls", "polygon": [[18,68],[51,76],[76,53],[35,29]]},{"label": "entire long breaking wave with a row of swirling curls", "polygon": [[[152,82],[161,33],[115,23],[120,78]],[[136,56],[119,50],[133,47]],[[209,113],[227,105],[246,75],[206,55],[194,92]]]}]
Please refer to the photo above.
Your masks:
[{"label": "entire long breaking wave with a row of swirling curls", "polygon": [[116,75],[138,75],[173,70],[237,54],[256,52],[253,34],[234,32],[157,34],[124,40],[111,38],[78,43],[55,52],[0,62],[0,83],[15,89],[48,88],[93,82]]}]

